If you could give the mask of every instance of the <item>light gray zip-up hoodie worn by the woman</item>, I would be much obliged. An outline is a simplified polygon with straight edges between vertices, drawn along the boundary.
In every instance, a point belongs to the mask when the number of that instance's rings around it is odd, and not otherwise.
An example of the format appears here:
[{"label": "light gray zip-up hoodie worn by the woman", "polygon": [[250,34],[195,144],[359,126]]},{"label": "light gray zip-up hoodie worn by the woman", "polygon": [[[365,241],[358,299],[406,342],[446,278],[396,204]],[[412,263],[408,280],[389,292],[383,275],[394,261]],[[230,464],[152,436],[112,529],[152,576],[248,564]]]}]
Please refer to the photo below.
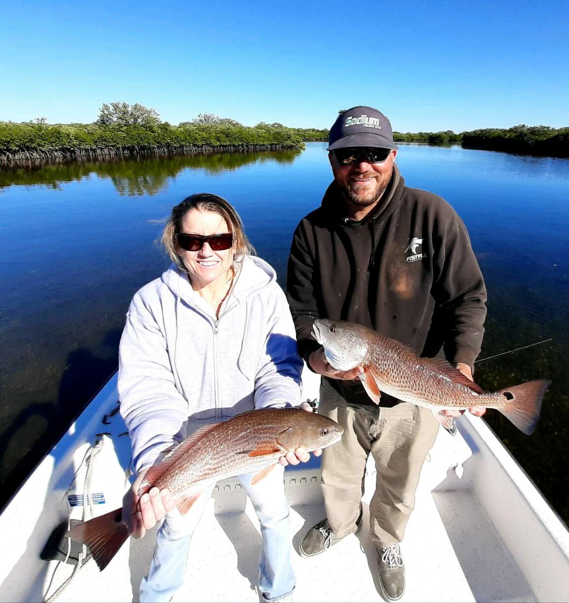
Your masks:
[{"label": "light gray zip-up hoodie worn by the woman", "polygon": [[219,319],[174,264],[131,301],[119,348],[131,470],[151,466],[195,423],[300,401],[302,360],[274,270],[245,256]]}]

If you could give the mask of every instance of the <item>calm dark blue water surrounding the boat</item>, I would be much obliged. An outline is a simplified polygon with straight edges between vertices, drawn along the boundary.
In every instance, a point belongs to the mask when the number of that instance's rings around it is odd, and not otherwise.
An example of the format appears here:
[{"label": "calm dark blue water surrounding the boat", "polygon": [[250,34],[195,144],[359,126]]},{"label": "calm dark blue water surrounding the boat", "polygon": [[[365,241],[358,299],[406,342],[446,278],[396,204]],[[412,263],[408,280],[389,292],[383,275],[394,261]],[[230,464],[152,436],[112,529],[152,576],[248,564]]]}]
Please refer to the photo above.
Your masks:
[{"label": "calm dark blue water surrounding the boat", "polygon": [[[324,143],[303,152],[76,163],[0,171],[0,503],[117,366],[134,292],[168,266],[156,244],[194,192],[227,198],[284,285],[292,232],[331,180]],[[401,145],[409,186],[450,201],[486,278],[486,388],[553,379],[530,437],[489,423],[569,520],[569,160]]]}]

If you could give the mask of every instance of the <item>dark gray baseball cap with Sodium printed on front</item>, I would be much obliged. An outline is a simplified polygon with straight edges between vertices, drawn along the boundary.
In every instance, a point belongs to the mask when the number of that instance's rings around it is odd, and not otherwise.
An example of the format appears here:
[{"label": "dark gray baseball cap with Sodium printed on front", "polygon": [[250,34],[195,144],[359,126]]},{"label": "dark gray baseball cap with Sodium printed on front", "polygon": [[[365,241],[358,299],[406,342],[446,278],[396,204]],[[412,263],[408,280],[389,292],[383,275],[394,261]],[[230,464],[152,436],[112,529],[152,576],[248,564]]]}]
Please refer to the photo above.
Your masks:
[{"label": "dark gray baseball cap with Sodium printed on front", "polygon": [[373,107],[357,106],[338,115],[328,139],[328,151],[350,147],[397,149],[389,119]]}]

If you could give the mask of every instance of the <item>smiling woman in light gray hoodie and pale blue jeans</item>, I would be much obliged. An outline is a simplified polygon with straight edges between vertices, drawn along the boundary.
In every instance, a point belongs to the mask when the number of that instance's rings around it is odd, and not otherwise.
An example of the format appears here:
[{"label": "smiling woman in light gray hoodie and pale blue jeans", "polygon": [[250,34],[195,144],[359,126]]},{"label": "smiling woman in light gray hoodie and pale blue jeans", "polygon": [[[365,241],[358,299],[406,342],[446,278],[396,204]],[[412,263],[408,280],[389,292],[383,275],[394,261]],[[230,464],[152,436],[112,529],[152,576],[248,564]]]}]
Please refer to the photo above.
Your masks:
[{"label": "smiling woman in light gray hoodie and pale blue jeans", "polygon": [[[134,295],[119,351],[121,414],[136,476],[122,516],[135,537],[165,517],[140,584],[142,602],[169,601],[182,586],[189,541],[212,490],[181,516],[167,490],[152,488],[136,511],[145,470],[202,425],[297,405],[302,368],[274,270],[251,255],[227,201],[211,194],[186,198],[172,210],[162,242],[173,264]],[[281,465],[308,458],[297,449]],[[262,526],[259,591],[265,601],[289,600],[295,587],[283,470],[254,487],[254,474],[240,476]]]}]

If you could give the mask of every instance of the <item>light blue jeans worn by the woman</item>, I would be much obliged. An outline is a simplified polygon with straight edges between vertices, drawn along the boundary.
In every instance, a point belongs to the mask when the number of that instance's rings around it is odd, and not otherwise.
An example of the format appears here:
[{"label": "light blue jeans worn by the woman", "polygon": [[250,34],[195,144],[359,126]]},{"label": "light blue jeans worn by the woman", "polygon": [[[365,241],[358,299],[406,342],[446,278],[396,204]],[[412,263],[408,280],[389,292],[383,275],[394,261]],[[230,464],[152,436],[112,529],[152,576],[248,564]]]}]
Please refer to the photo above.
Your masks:
[{"label": "light blue jeans worn by the woman", "polygon": [[[277,465],[254,486],[251,479],[255,473],[239,476],[261,524],[259,591],[267,601],[289,595],[296,583],[283,471],[284,467]],[[148,576],[140,582],[140,603],[169,601],[184,584],[189,543],[212,490],[213,486],[207,488],[186,515],[181,516],[177,508],[166,515],[156,537]]]}]

